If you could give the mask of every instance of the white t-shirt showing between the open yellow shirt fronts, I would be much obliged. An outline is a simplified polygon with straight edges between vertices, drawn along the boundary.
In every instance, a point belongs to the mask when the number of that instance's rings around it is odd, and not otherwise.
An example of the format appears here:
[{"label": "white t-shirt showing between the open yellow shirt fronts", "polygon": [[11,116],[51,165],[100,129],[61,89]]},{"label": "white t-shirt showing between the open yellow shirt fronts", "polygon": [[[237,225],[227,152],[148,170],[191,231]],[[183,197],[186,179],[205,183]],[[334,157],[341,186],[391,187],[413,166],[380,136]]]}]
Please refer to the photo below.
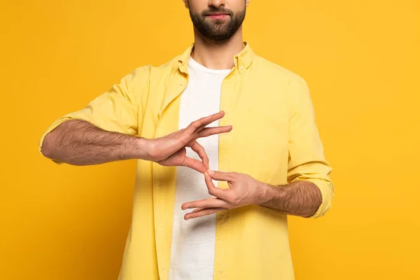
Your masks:
[{"label": "white t-shirt showing between the open yellow shirt fronts", "polygon": [[[220,111],[221,85],[228,70],[213,70],[197,63],[188,62],[188,85],[181,95],[179,129],[186,128],[199,118]],[[208,127],[218,126],[215,121]],[[209,156],[210,169],[218,170],[218,135],[197,141]],[[187,156],[200,157],[187,148]],[[217,181],[214,181],[215,186]],[[193,209],[182,210],[181,204],[211,197],[204,183],[204,175],[188,167],[177,167],[174,228],[172,232],[171,264],[169,280],[212,280],[214,248],[216,244],[216,214],[185,221],[183,216]]]}]

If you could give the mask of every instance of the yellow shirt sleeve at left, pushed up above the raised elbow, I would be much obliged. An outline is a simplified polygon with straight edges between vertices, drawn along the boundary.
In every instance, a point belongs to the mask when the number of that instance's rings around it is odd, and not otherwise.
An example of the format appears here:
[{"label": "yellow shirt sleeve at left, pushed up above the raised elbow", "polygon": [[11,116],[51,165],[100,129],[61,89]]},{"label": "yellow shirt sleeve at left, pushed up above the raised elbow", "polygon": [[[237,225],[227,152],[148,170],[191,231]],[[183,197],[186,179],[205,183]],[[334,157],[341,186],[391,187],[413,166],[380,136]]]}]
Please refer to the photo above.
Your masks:
[{"label": "yellow shirt sleeve at left, pushed up above the raised elbow", "polygon": [[[43,132],[38,143],[39,151],[41,152],[45,136],[66,120],[85,120],[106,131],[138,134],[139,120],[142,120],[143,114],[141,104],[145,103],[145,95],[148,93],[149,76],[149,66],[134,69],[83,109],[55,120]],[[52,161],[57,164],[62,163],[57,160]]]}]

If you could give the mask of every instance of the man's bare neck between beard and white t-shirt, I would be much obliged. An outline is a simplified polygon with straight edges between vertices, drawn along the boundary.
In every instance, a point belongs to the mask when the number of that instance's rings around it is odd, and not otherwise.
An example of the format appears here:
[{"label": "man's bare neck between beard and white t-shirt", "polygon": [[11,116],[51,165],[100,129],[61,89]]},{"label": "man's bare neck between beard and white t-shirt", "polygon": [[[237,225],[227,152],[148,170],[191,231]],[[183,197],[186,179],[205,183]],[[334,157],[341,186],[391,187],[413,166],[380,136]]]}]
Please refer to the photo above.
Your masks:
[{"label": "man's bare neck between beard and white t-shirt", "polygon": [[242,27],[226,41],[211,41],[194,30],[193,59],[209,69],[232,69],[235,66],[234,57],[244,49]]}]

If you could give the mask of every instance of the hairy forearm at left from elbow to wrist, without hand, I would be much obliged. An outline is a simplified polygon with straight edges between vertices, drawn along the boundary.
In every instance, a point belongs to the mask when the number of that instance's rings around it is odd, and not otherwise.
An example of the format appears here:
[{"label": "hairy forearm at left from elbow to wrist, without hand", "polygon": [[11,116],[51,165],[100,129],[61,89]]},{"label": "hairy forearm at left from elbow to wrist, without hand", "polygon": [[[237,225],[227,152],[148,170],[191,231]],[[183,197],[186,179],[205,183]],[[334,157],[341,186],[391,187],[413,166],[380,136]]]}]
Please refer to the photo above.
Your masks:
[{"label": "hairy forearm at left from elbow to wrist, without hand", "polygon": [[84,120],[67,120],[48,133],[41,152],[71,165],[147,158],[147,139],[108,132]]}]

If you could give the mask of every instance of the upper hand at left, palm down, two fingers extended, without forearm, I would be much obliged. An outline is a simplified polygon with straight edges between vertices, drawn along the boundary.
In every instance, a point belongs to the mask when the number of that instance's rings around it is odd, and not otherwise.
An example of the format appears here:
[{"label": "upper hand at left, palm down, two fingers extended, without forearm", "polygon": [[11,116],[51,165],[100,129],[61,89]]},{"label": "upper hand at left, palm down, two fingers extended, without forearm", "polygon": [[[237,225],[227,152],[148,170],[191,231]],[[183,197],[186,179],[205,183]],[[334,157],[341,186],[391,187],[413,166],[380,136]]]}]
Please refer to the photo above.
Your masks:
[{"label": "upper hand at left, palm down, two fingers extended, without forearm", "polygon": [[[183,130],[151,140],[150,146],[148,147],[148,158],[146,160],[152,160],[164,166],[190,167],[204,174],[209,169],[209,158],[203,146],[197,142],[197,139],[230,132],[232,125],[206,127],[215,120],[220,120],[223,116],[225,116],[225,112],[221,111],[214,115],[195,120]],[[188,158],[186,147],[190,147],[195,151],[202,161]]]}]

